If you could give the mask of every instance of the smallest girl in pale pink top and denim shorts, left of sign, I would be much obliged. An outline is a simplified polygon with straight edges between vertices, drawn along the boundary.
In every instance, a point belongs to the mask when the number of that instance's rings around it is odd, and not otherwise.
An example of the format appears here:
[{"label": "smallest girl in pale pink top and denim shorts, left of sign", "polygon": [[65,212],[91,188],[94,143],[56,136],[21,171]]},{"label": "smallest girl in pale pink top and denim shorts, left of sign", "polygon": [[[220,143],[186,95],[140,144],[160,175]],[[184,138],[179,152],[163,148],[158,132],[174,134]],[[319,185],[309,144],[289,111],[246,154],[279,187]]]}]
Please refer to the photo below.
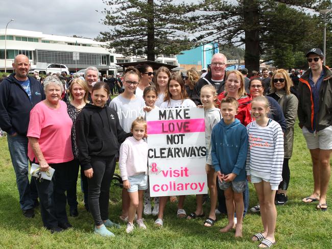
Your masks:
[{"label": "smallest girl in pale pink top and denim shorts, left of sign", "polygon": [[123,186],[130,198],[127,233],[134,229],[134,218],[139,228],[147,229],[142,219],[143,195],[148,188],[148,144],[143,140],[147,131],[147,122],[143,117],[136,118],[131,126],[132,137],[128,137],[120,146],[119,167]]}]

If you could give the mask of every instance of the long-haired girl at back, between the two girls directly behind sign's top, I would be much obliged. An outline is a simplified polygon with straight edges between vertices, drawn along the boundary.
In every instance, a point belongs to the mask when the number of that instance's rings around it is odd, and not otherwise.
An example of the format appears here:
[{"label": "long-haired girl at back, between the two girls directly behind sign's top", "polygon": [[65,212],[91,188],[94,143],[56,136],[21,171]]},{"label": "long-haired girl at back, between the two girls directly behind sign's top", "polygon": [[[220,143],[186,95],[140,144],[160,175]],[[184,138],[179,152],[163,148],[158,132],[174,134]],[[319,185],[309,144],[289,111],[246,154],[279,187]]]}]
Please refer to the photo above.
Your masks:
[{"label": "long-haired girl at back, between the two girls directly behind sign's top", "polygon": [[161,66],[156,71],[156,76],[154,78],[154,85],[157,89],[157,100],[155,106],[160,107],[161,103],[167,94],[167,84],[171,78],[171,72],[167,67]]}]

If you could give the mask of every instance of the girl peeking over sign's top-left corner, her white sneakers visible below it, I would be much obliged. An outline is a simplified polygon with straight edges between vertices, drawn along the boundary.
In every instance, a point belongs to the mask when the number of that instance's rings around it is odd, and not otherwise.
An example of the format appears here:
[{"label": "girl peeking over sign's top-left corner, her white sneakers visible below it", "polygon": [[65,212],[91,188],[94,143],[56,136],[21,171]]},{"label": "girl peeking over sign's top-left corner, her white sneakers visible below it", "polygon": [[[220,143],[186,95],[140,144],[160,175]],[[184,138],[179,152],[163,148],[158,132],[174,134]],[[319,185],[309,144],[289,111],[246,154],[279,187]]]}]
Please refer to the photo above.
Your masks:
[{"label": "girl peeking over sign's top-left corner, her white sneakers visible below it", "polygon": [[[145,104],[147,105],[145,107],[146,111],[151,111],[154,108],[158,108],[155,106],[156,99],[158,96],[157,89],[154,86],[148,86],[144,89],[143,92],[143,98],[145,100]],[[158,108],[159,109],[159,108]],[[151,198],[150,198],[150,189],[148,188],[144,192],[144,211],[143,213],[145,215],[158,215],[159,212],[159,197],[154,198],[154,208],[151,211]]]}]

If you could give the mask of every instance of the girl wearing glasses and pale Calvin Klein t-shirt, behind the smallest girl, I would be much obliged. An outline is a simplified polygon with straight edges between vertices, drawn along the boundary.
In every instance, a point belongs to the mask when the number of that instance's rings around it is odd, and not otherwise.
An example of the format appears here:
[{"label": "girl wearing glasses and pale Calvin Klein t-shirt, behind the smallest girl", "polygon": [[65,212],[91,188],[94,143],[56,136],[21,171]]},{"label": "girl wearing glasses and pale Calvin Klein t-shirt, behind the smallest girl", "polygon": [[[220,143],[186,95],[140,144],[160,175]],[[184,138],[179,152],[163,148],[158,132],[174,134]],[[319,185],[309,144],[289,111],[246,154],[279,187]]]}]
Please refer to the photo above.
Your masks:
[{"label": "girl wearing glasses and pale Calvin Klein t-shirt, behind the smallest girl", "polygon": [[[140,73],[134,67],[128,67],[125,71],[123,85],[125,91],[113,98],[109,107],[115,109],[120,125],[125,132],[130,132],[132,122],[139,116],[144,116],[143,108],[145,102],[142,96],[135,95],[137,91],[138,82],[140,82]],[[128,209],[129,209],[129,195],[127,189],[122,190],[122,215],[120,219],[128,221]]]}]

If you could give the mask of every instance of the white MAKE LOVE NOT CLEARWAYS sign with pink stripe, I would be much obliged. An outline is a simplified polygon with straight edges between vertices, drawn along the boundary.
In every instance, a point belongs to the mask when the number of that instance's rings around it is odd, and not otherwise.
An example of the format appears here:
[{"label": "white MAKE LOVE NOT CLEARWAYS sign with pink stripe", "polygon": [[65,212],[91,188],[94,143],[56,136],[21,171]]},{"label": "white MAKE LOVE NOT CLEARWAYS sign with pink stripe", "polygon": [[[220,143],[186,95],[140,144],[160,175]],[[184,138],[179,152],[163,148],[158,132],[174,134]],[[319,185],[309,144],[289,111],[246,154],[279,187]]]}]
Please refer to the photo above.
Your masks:
[{"label": "white MAKE LOVE NOT CLEARWAYS sign with pink stripe", "polygon": [[207,193],[204,110],[154,109],[147,123],[150,195]]}]

